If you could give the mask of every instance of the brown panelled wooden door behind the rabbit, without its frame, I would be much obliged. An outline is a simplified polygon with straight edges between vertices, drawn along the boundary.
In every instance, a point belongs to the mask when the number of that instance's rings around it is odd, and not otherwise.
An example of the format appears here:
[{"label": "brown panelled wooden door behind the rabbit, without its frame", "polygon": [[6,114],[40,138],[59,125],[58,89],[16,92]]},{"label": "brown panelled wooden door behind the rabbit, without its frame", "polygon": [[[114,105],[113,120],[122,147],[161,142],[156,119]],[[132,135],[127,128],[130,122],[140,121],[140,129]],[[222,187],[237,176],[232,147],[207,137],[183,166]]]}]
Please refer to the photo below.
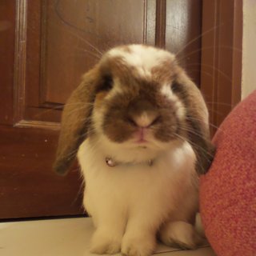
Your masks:
[{"label": "brown panelled wooden door behind the rabbit, without its frame", "polygon": [[78,166],[51,169],[62,106],[112,46],[178,54],[200,85],[200,0],[0,2],[0,218],[82,214]]}]

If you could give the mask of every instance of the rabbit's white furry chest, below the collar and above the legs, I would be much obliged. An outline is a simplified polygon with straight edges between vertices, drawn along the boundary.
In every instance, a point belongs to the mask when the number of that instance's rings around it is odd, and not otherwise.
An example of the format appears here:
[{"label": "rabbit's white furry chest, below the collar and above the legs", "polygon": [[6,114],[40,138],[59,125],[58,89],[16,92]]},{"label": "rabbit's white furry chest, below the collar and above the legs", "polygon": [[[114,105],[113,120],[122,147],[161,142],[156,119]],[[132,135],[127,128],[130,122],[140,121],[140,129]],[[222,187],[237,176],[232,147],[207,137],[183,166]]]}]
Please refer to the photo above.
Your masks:
[{"label": "rabbit's white furry chest, below the collar and above the legs", "polygon": [[188,190],[194,193],[191,175],[194,152],[189,144],[145,163],[108,166],[106,157],[86,141],[80,146],[78,160],[86,180],[84,205],[97,222],[100,213],[156,215],[165,218]]}]

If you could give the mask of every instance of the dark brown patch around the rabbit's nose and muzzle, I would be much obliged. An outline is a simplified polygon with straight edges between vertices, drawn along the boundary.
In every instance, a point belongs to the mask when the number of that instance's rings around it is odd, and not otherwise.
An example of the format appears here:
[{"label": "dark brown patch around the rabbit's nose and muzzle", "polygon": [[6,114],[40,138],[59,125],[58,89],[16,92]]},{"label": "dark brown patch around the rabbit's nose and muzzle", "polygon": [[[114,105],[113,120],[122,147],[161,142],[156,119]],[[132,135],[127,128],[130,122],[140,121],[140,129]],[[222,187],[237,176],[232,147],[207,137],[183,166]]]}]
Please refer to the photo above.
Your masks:
[{"label": "dark brown patch around the rabbit's nose and muzzle", "polygon": [[[134,81],[138,83],[138,81]],[[126,85],[127,86],[127,85]],[[161,86],[155,82],[142,81],[137,85],[143,90],[129,91],[117,94],[106,101],[106,115],[102,129],[113,142],[125,142],[138,129],[131,120],[143,112],[156,118],[150,126],[155,139],[168,142],[175,138],[180,121],[178,120],[175,104],[160,92]]]}]

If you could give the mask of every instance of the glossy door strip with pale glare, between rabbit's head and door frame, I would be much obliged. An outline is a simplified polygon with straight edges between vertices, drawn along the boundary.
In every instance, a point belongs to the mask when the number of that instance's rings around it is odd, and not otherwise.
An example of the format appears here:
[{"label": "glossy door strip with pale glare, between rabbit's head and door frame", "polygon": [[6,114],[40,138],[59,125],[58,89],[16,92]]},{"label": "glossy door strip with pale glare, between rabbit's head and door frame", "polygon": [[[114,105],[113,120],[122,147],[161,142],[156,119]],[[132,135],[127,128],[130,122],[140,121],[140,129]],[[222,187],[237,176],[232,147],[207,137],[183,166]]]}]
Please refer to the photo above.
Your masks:
[{"label": "glossy door strip with pale glare, between rabbit's head and door frame", "polygon": [[200,87],[202,0],[166,0],[166,49]]}]

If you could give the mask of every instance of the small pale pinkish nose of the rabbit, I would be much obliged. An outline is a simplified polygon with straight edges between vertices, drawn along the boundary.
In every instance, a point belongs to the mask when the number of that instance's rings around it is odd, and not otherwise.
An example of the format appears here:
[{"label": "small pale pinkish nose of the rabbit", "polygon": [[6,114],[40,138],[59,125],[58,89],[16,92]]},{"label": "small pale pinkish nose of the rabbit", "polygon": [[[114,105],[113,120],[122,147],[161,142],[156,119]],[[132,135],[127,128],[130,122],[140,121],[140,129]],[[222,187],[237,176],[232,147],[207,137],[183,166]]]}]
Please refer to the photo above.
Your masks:
[{"label": "small pale pinkish nose of the rabbit", "polygon": [[156,113],[142,112],[142,114],[130,118],[130,121],[133,122],[134,126],[149,128],[158,122],[158,118],[158,114]]}]

